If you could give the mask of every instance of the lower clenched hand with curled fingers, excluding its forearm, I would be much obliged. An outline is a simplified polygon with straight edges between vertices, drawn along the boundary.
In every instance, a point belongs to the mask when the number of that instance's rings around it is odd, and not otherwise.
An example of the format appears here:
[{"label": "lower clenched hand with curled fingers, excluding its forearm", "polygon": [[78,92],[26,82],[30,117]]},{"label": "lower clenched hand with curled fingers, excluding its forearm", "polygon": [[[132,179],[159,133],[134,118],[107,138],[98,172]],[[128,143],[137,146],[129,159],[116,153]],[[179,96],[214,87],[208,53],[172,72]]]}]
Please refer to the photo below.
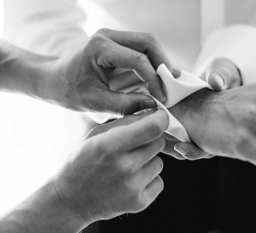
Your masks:
[{"label": "lower clenched hand with curled fingers, excluding its forearm", "polygon": [[152,112],[127,125],[132,116],[97,126],[53,178],[62,205],[83,224],[139,212],[163,189],[155,155],[164,147],[168,116]]}]

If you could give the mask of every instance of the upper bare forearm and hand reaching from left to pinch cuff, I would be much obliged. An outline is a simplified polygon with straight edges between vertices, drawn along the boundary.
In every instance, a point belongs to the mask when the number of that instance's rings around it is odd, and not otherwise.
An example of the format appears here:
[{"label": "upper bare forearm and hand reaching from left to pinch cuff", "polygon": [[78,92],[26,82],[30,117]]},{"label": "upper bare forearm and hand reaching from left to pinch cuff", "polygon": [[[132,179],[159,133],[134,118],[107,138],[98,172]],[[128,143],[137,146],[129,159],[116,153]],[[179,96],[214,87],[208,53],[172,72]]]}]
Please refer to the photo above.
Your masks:
[{"label": "upper bare forearm and hand reaching from left to pinch cuff", "polygon": [[[0,90],[23,93],[75,111],[127,115],[156,104],[149,96],[109,89],[108,69],[132,70],[161,102],[166,101],[155,69],[165,63],[154,34],[100,29],[62,58],[33,54],[0,42]],[[175,77],[180,75],[174,70]],[[99,98],[100,97],[100,98]]]}]

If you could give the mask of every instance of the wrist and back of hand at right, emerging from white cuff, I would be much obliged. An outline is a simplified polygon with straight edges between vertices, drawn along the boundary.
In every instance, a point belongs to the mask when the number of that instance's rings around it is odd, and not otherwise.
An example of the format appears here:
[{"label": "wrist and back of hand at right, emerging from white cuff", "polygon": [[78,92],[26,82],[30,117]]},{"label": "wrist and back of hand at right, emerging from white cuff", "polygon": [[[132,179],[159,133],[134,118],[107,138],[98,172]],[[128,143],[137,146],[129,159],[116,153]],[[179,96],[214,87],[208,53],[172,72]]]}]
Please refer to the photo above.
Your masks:
[{"label": "wrist and back of hand at right, emerging from white cuff", "polygon": [[[223,92],[202,89],[169,111],[184,125],[191,140],[208,154],[256,164],[255,91],[256,84]],[[193,153],[187,145],[183,143],[182,149]],[[188,151],[184,156],[193,159]]]}]

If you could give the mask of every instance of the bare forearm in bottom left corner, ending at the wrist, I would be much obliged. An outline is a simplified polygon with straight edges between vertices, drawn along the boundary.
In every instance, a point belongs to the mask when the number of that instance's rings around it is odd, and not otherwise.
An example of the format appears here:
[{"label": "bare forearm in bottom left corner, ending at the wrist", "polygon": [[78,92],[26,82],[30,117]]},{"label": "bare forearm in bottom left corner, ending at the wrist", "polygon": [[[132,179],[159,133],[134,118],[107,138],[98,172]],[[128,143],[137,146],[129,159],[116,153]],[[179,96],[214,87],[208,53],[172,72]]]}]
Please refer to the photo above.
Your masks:
[{"label": "bare forearm in bottom left corner, ending at the wrist", "polygon": [[83,218],[63,205],[51,181],[0,219],[3,233],[75,233],[87,225]]}]

